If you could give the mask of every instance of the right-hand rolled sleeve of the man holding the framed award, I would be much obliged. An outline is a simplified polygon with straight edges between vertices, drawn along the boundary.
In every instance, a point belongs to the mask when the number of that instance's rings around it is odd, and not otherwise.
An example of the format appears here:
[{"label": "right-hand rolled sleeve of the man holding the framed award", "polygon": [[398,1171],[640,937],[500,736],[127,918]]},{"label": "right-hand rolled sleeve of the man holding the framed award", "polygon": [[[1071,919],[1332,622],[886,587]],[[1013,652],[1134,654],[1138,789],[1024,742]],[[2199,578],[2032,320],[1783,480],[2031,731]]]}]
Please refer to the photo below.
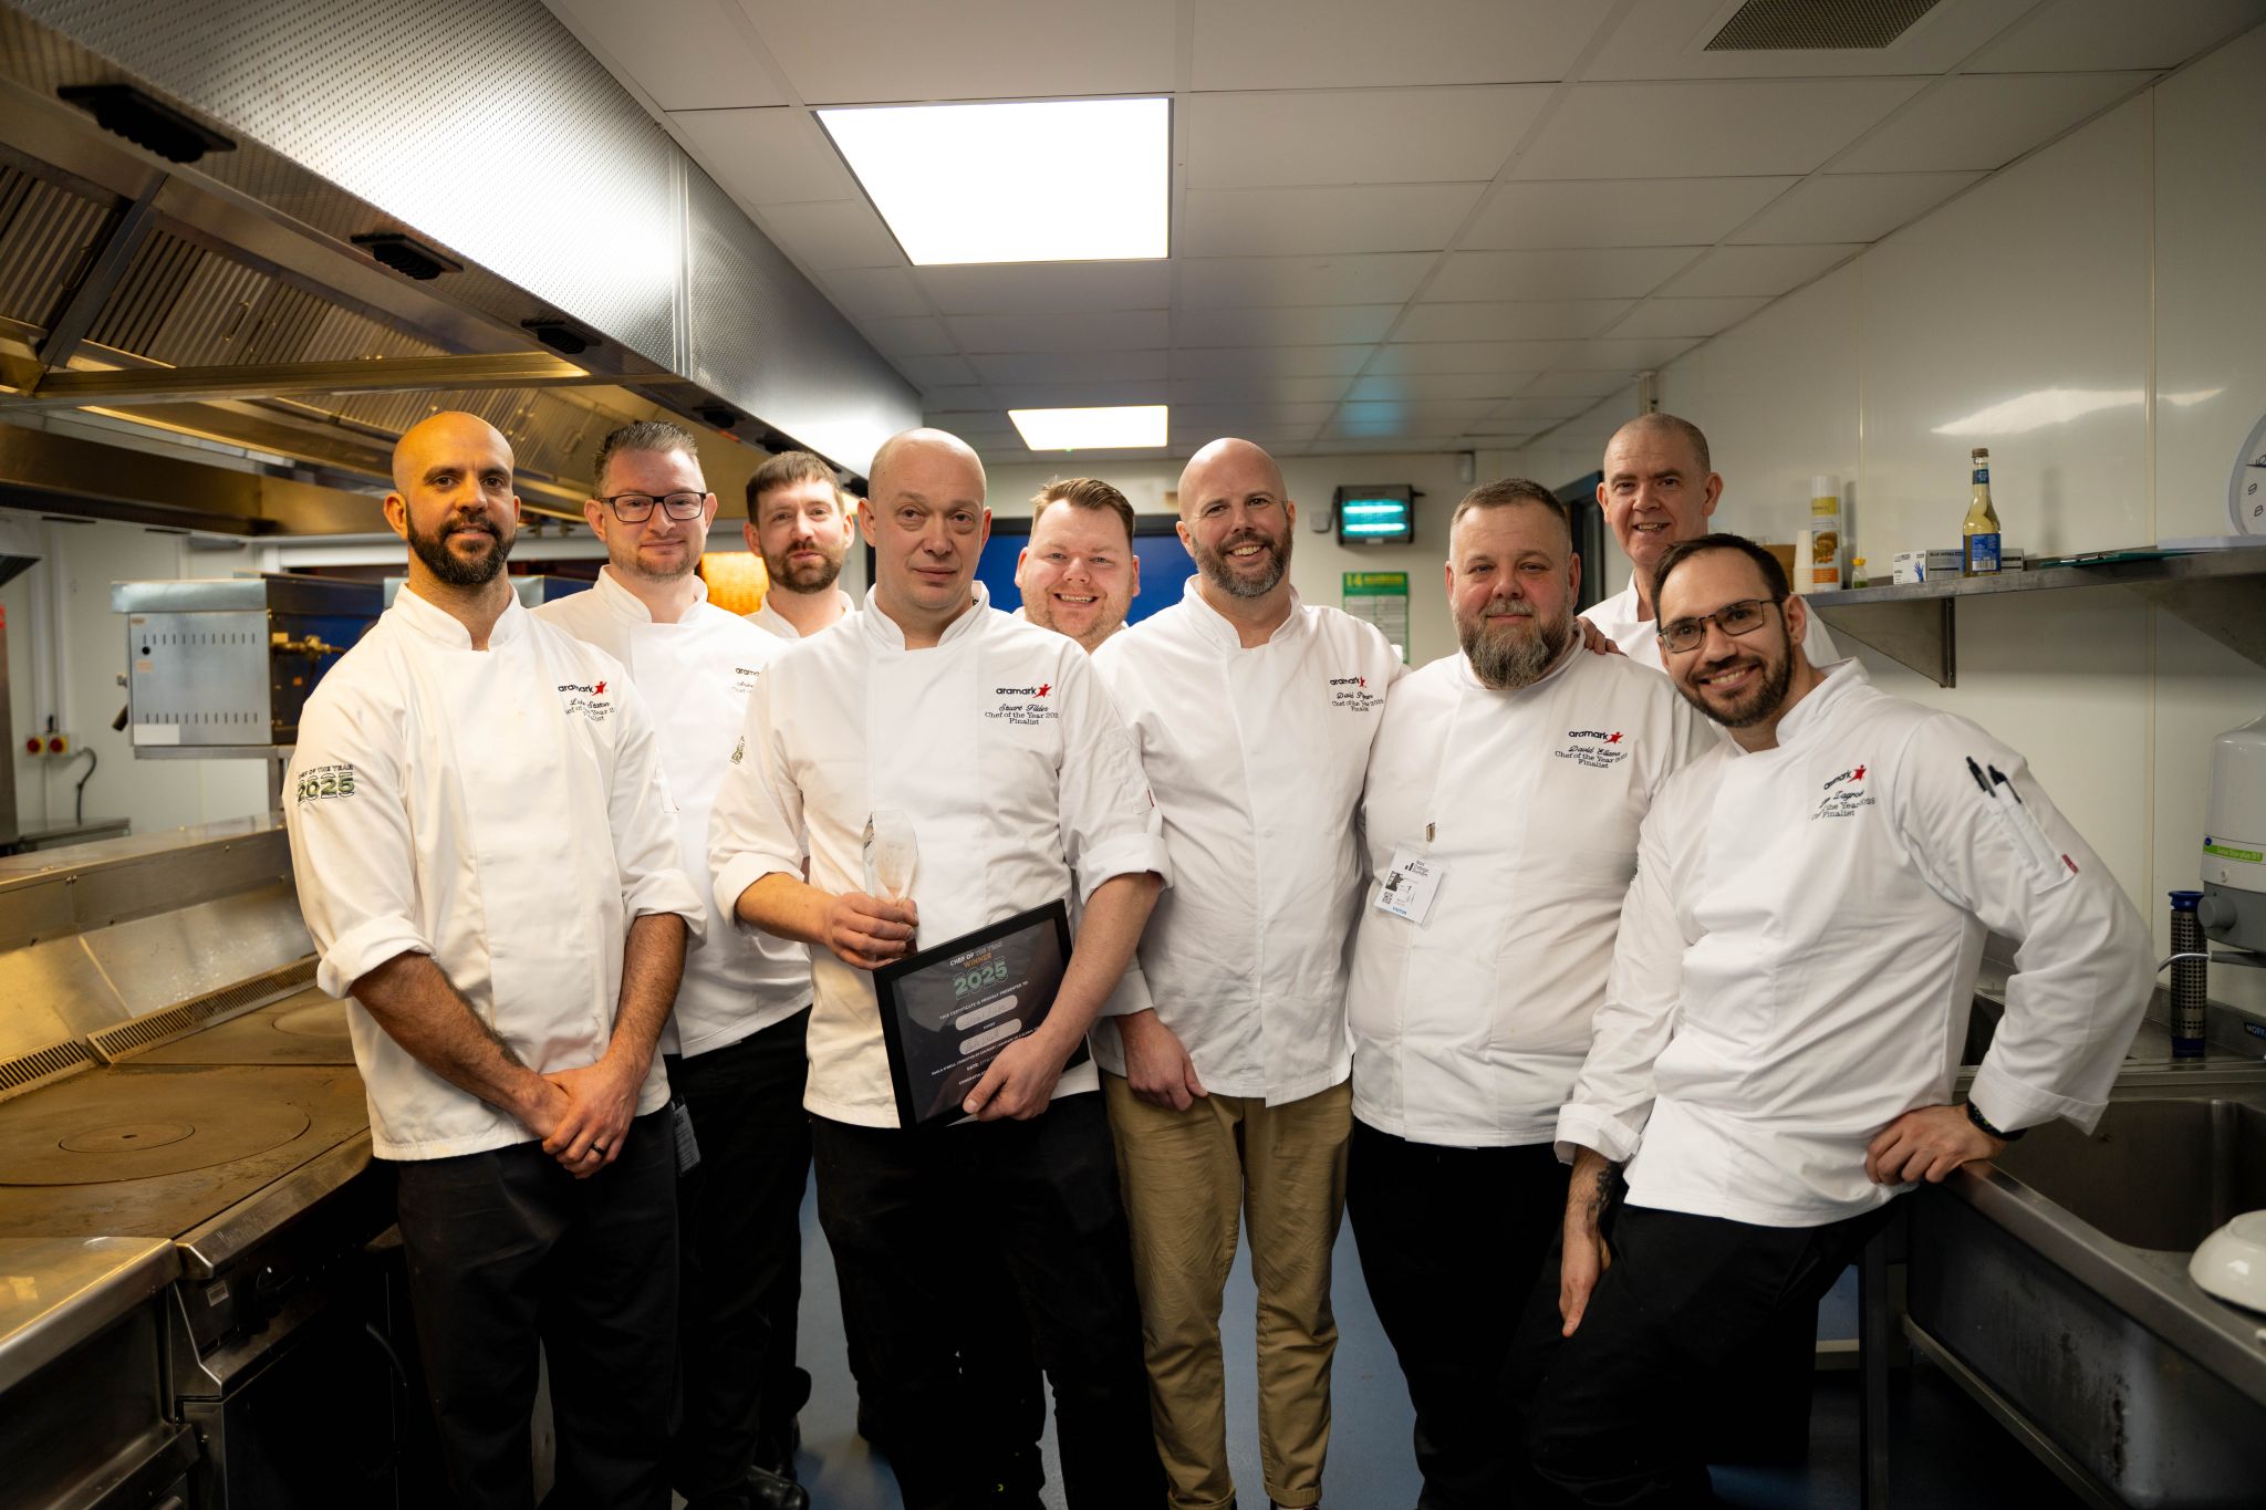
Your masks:
[{"label": "right-hand rolled sleeve of the man holding the framed award", "polygon": [[1101,675],[1074,652],[1063,661],[1063,777],[1058,783],[1063,856],[1079,876],[1079,901],[1113,876],[1153,872],[1172,885],[1165,817],[1149,795],[1140,752]]}]

